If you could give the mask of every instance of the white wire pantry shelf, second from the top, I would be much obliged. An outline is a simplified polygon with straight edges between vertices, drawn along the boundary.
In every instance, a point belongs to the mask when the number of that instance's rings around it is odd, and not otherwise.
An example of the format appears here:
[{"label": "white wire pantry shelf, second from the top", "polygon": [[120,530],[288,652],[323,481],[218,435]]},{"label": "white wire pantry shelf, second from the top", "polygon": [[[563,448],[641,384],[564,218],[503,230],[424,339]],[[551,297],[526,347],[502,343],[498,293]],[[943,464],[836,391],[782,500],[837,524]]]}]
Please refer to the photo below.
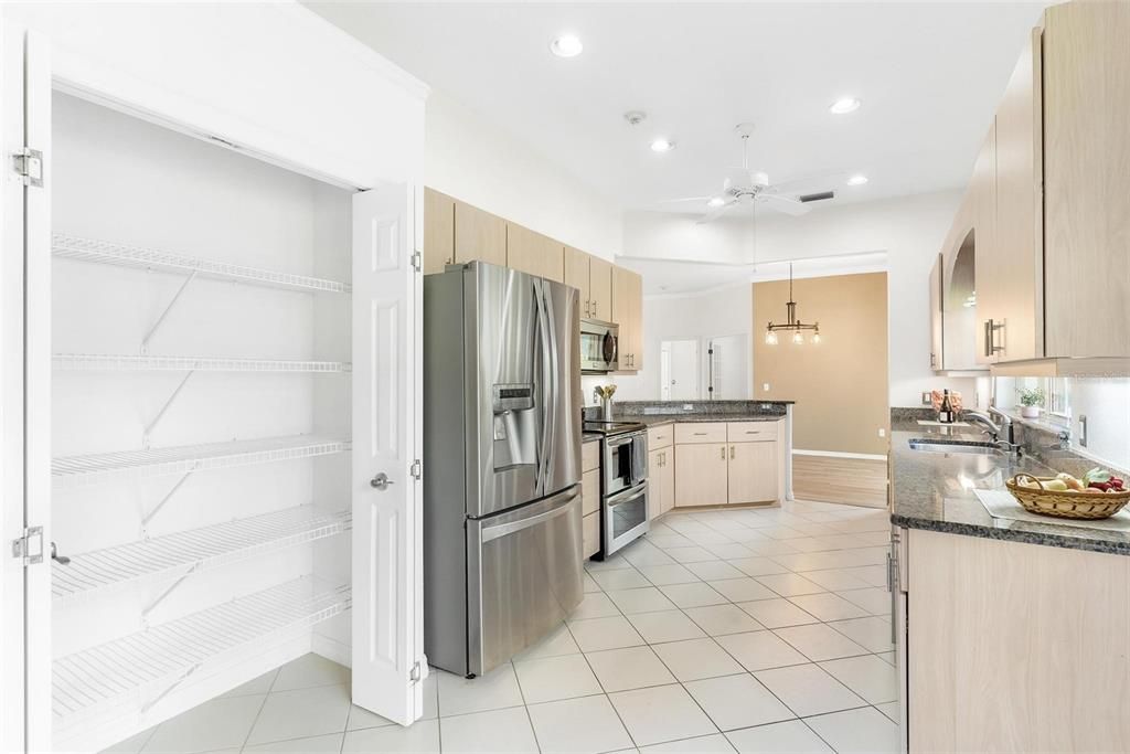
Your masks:
[{"label": "white wire pantry shelf, second from the top", "polygon": [[302,362],[220,356],[130,356],[55,354],[56,370],[94,372],[349,372],[348,362]]}]

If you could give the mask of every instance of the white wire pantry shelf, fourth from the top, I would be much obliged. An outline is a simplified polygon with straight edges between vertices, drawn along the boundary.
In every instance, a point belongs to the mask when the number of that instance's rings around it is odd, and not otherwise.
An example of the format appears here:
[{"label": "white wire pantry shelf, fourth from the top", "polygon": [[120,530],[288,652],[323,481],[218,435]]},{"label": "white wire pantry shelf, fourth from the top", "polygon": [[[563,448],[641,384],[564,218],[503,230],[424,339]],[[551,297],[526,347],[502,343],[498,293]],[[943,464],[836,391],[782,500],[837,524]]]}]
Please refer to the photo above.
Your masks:
[{"label": "white wire pantry shelf, fourth from the top", "polygon": [[71,603],[142,580],[180,579],[331,537],[348,529],[349,521],[349,512],[301,505],[71,555],[68,565],[52,564],[51,592],[56,604]]}]

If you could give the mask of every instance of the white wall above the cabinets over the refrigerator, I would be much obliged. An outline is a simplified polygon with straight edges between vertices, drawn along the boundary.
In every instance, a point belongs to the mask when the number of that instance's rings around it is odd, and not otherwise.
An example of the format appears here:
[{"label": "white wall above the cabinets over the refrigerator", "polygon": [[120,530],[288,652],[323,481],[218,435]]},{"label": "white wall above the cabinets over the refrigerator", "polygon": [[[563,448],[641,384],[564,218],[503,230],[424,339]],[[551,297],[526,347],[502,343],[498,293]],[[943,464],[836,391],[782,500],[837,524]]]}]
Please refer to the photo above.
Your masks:
[{"label": "white wall above the cabinets over the refrigerator", "polygon": [[425,129],[426,185],[590,254],[620,252],[620,207],[515,136],[435,90]]}]

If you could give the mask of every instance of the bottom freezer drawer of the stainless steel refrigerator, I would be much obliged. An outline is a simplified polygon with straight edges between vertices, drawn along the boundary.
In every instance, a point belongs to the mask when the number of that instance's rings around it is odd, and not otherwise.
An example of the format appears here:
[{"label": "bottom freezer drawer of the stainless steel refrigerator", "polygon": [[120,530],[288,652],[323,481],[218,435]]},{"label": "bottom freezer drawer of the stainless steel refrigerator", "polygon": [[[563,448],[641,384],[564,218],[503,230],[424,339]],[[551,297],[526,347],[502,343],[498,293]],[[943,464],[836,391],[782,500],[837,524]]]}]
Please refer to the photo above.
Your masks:
[{"label": "bottom freezer drawer of the stainless steel refrigerator", "polygon": [[467,547],[468,673],[481,675],[540,640],[581,603],[581,486],[468,520]]}]

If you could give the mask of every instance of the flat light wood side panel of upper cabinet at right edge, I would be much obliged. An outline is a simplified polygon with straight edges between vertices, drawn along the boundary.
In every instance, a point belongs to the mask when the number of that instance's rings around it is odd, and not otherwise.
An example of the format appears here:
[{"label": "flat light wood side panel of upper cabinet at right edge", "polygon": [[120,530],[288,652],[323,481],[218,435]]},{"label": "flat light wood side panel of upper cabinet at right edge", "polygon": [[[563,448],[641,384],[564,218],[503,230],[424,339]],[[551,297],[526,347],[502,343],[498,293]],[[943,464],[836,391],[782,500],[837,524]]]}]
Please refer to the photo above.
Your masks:
[{"label": "flat light wood side panel of upper cabinet at right edge", "polygon": [[1044,11],[1048,356],[1130,356],[1130,3]]}]

